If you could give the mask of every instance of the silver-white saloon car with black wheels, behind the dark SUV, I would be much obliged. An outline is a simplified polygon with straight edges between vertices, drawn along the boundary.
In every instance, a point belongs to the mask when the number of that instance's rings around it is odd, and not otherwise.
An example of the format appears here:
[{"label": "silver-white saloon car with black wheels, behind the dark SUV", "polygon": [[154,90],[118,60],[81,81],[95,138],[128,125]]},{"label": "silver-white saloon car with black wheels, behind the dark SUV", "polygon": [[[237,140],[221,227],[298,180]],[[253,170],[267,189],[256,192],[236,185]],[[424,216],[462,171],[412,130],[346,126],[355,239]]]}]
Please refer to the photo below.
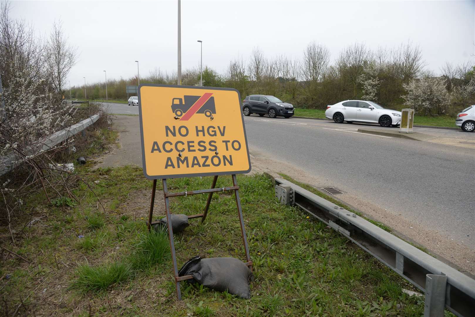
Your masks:
[{"label": "silver-white saloon car with black wheels, behind the dark SUV", "polygon": [[384,109],[372,101],[347,100],[332,106],[327,106],[325,116],[333,119],[336,123],[364,122],[379,123],[381,126],[399,126],[401,124],[401,112]]}]

